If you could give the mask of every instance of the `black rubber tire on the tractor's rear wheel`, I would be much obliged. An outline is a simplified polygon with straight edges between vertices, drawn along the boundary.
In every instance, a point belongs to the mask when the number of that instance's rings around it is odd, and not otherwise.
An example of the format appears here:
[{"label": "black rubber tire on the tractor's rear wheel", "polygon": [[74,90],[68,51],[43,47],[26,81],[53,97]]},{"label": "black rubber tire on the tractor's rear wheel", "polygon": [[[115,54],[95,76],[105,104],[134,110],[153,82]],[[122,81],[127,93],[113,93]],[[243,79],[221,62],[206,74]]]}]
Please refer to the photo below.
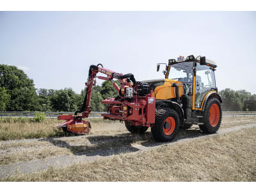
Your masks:
[{"label": "black rubber tire on the tractor's rear wheel", "polygon": [[[218,118],[218,114],[214,115],[214,116],[216,116],[216,118],[214,118],[214,121],[213,121],[214,123],[211,123],[209,120],[209,117],[211,116],[210,109],[211,109],[212,105],[217,105],[218,108],[216,108],[216,110],[219,109],[219,118]],[[207,101],[207,104],[205,106],[205,110],[203,113],[204,125],[199,125],[199,127],[203,132],[212,134],[212,133],[218,131],[218,129],[220,128],[221,118],[222,118],[222,110],[221,110],[220,100],[218,100],[216,98],[209,99]]]}]

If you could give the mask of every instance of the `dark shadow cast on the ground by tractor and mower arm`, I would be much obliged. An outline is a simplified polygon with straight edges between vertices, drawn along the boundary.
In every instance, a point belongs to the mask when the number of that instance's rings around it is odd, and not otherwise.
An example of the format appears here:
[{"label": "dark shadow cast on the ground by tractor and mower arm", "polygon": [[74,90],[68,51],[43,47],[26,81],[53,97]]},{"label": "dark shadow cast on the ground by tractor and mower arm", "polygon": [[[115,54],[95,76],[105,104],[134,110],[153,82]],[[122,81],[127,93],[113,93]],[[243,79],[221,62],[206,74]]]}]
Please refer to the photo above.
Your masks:
[{"label": "dark shadow cast on the ground by tractor and mower arm", "polygon": [[116,134],[115,136],[86,136],[84,140],[87,140],[88,143],[84,145],[70,145],[70,143],[60,140],[60,138],[45,138],[40,141],[49,141],[57,147],[68,148],[76,156],[112,156],[140,150],[139,148],[132,147],[132,143],[138,143],[143,145],[143,147],[155,147],[187,138],[198,138],[204,135],[200,130],[192,128],[187,130],[181,129],[172,141],[164,143],[154,141],[151,132],[148,131],[141,135],[123,133]]}]

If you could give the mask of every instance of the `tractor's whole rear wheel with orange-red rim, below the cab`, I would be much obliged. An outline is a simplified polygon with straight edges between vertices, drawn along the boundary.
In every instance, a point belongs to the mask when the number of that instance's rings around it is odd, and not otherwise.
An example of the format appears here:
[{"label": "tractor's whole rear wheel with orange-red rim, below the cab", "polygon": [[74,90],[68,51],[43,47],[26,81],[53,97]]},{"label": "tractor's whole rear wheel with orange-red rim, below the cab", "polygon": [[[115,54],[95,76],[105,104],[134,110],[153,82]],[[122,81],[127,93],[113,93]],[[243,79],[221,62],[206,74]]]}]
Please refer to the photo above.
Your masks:
[{"label": "tractor's whole rear wheel with orange-red rim, below the cab", "polygon": [[200,129],[206,133],[218,131],[221,124],[222,110],[220,100],[212,98],[207,101],[203,114],[204,125],[199,125]]}]

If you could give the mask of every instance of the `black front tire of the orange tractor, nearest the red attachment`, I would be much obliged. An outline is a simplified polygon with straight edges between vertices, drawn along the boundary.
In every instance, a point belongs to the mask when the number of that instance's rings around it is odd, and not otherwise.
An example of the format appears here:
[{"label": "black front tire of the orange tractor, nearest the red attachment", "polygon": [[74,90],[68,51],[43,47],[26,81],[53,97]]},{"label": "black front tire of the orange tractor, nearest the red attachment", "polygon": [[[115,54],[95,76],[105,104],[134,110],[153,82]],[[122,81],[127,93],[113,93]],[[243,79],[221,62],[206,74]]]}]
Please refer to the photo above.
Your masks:
[{"label": "black front tire of the orange tractor, nearest the red attachment", "polygon": [[[164,126],[166,126],[165,121],[169,117],[174,120],[175,124],[167,124],[168,128],[164,128]],[[156,141],[159,142],[170,141],[176,136],[177,132],[179,131],[179,127],[180,119],[176,111],[170,108],[158,109],[156,111],[155,124],[153,127],[151,127],[152,136]],[[166,129],[170,129],[170,134]]]}]

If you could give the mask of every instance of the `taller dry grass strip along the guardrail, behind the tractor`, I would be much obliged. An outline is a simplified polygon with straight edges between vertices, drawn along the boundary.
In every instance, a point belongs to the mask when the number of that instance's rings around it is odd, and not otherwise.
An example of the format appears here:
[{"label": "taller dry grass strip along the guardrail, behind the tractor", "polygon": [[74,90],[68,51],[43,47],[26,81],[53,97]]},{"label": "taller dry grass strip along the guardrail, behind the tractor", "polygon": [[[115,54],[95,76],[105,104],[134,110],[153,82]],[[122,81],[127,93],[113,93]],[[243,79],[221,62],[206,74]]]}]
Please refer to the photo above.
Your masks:
[{"label": "taller dry grass strip along the guardrail, behind the tractor", "polygon": [[[125,125],[118,121],[103,120],[102,118],[89,118],[88,120],[92,125],[89,134],[92,135],[113,135],[128,132]],[[221,128],[245,125],[253,122],[256,122],[256,116],[223,117]],[[60,124],[60,121],[56,118],[46,118],[39,122],[36,122],[33,118],[0,118],[0,140],[66,136],[63,131],[56,128],[58,124]]]}]

